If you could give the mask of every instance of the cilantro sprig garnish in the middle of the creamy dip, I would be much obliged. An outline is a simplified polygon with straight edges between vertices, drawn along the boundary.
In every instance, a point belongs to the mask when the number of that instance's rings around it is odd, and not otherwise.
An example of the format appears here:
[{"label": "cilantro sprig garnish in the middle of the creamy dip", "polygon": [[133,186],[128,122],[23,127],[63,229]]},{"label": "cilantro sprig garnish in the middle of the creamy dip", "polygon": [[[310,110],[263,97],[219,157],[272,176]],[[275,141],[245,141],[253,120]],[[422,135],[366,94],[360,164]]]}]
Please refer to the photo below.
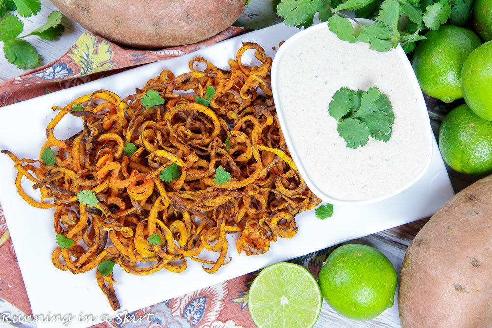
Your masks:
[{"label": "cilantro sprig garnish in the middle of the creamy dip", "polygon": [[377,87],[365,92],[340,88],[328,105],[328,113],[338,121],[337,132],[350,148],[366,145],[369,137],[387,142],[393,132],[391,102]]}]

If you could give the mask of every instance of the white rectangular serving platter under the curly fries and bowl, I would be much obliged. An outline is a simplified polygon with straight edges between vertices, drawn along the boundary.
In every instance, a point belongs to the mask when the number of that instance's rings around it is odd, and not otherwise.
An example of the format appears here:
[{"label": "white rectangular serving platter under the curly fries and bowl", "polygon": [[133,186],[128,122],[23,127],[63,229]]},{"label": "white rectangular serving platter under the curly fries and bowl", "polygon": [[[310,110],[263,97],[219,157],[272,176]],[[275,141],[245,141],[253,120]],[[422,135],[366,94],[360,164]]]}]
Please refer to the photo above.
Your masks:
[{"label": "white rectangular serving platter under the curly fries and bowl", "polygon": [[[76,97],[98,89],[108,89],[124,97],[142,87],[148,79],[161,70],[170,69],[176,75],[188,71],[188,62],[195,56],[203,56],[218,67],[227,67],[235,58],[242,42],[257,42],[269,56],[274,56],[278,44],[299,31],[277,24],[262,30],[222,41],[182,57],[163,60],[64,89],[35,99],[0,108],[0,149],[13,151],[19,157],[37,158],[45,141],[45,128],[55,113],[51,106],[64,106]],[[245,56],[253,59],[253,51]],[[245,58],[245,56],[243,58]],[[247,63],[245,58],[244,62]],[[80,119],[63,119],[55,131],[59,138],[78,132]],[[387,200],[359,206],[336,206],[330,219],[318,220],[314,210],[296,217],[299,231],[292,239],[278,239],[268,253],[247,257],[238,255],[235,247],[229,248],[230,264],[213,275],[202,270],[201,264],[188,262],[184,273],[175,274],[162,270],[150,276],[133,276],[115,267],[115,288],[122,309],[111,310],[107,298],[99,290],[95,272],[73,275],[60,271],[51,263],[55,248],[53,209],[36,209],[17,194],[14,179],[16,170],[6,155],[0,155],[0,201],[21,268],[24,283],[34,315],[92,314],[116,316],[125,310],[133,311],[169,298],[198,290],[228,279],[263,268],[272,263],[292,259],[350,239],[373,234],[417,219],[428,217],[450,197],[453,189],[444,163],[434,140],[431,166],[415,185]],[[34,193],[31,193],[34,194]],[[235,236],[228,236],[235,245]],[[61,297],[65,295],[66,297]],[[87,327],[93,322],[76,319],[70,327]],[[58,323],[38,323],[38,327],[66,327]]]}]

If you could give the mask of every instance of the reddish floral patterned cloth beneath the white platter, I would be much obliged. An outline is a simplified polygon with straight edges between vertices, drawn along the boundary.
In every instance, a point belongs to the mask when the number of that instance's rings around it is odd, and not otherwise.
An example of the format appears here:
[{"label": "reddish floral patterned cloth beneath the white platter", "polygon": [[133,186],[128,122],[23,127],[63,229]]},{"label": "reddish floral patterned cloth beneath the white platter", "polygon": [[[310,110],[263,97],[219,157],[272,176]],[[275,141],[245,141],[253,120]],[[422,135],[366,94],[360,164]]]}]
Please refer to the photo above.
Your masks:
[{"label": "reddish floral patterned cloth beneath the white platter", "polygon": [[[0,84],[0,106],[73,87],[137,65],[193,52],[235,36],[245,29],[230,27],[203,42],[146,51],[122,48],[91,33],[84,33],[55,62]],[[330,249],[294,260],[317,276]],[[0,205],[0,314],[6,309],[31,314],[21,272]],[[247,310],[247,293],[257,272],[128,313],[126,323],[113,320],[96,328],[250,328],[255,327]],[[151,323],[131,322],[152,314]]]}]

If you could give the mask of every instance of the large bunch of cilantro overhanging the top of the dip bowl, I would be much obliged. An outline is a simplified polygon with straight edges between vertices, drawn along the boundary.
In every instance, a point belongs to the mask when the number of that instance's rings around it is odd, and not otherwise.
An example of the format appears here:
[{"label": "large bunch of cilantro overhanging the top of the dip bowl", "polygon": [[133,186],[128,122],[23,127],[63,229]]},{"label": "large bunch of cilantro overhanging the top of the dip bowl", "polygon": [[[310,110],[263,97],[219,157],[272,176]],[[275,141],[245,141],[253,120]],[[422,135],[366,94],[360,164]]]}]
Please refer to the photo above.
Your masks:
[{"label": "large bunch of cilantro overhanging the top of the dip bowl", "polygon": [[[455,25],[465,24],[473,0],[275,0],[275,4],[277,15],[285,18],[288,26],[309,27],[319,13],[319,19],[328,22],[341,40],[366,42],[377,51],[388,51],[401,43],[409,53],[415,42],[425,39],[421,34],[437,30],[448,19]],[[362,24],[347,11],[375,23]]]}]

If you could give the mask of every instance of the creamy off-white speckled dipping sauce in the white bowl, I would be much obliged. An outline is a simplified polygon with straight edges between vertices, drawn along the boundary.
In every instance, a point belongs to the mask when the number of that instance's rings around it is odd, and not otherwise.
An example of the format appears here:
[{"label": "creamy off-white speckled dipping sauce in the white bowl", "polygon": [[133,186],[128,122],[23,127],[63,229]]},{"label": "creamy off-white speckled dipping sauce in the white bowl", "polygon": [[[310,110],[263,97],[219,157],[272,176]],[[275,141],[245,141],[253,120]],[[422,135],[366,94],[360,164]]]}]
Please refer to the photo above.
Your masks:
[{"label": "creamy off-white speckled dipping sauce in the white bowl", "polygon": [[[291,139],[289,148],[293,146],[296,164],[309,179],[342,201],[383,198],[415,182],[430,163],[432,138],[406,57],[395,49],[377,52],[366,43],[341,41],[326,23],[292,41],[283,45],[277,64],[276,101]],[[328,104],[341,87],[367,91],[373,86],[391,101],[393,134],[386,143],[369,138],[364,147],[348,148]]]}]

